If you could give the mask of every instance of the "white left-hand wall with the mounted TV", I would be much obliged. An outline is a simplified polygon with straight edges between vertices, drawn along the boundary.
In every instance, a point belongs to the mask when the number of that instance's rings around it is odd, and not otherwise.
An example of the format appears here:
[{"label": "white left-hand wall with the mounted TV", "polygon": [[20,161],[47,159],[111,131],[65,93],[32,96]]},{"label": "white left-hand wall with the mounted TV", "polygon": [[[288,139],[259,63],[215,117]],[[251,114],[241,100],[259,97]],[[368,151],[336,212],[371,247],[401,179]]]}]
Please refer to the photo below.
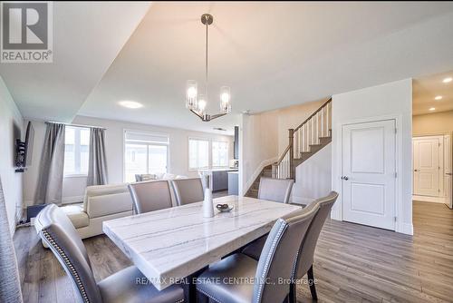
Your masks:
[{"label": "white left-hand wall with the mounted TV", "polygon": [[0,177],[11,233],[22,215],[22,173],[14,172],[15,139],[22,138],[24,120],[0,77]]}]

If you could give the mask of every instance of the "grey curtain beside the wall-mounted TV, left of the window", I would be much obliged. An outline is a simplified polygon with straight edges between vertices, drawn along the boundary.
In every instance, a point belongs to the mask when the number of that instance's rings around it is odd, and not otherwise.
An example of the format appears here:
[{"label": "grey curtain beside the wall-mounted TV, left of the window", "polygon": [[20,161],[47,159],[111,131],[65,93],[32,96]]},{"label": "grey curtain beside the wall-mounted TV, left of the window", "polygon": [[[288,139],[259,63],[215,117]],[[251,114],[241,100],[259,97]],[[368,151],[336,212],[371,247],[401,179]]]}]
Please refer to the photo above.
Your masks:
[{"label": "grey curtain beside the wall-mounted TV, left of the window", "polygon": [[62,203],[64,124],[47,123],[34,204]]}]

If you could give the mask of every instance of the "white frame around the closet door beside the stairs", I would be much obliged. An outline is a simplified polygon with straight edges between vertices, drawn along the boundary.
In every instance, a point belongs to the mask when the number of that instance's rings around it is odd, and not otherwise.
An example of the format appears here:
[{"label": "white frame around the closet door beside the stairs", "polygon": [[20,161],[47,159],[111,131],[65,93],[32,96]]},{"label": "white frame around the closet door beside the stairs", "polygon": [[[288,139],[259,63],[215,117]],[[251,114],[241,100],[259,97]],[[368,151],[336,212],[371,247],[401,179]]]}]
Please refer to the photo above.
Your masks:
[{"label": "white frame around the closet door beside the stairs", "polygon": [[[396,129],[396,134],[395,134],[395,169],[397,176],[395,178],[395,231],[397,232],[402,232],[402,233],[407,233],[408,229],[405,229],[404,227],[404,221],[403,221],[403,199],[402,199],[402,173],[403,173],[403,168],[402,168],[402,159],[403,159],[403,152],[402,152],[402,134],[401,134],[401,125],[402,125],[402,115],[382,115],[382,116],[373,116],[373,117],[368,117],[368,118],[360,118],[360,119],[352,119],[352,120],[347,120],[342,123],[337,123],[335,125],[336,128],[336,136],[338,138],[338,143],[336,144],[336,151],[333,151],[333,155],[337,155],[336,157],[336,168],[335,171],[337,172],[336,176],[333,176],[333,188],[337,189],[339,192],[339,197],[336,201],[337,208],[336,211],[332,211],[332,216],[331,218],[334,220],[343,220],[343,214],[342,214],[342,127],[343,125],[350,125],[350,124],[360,124],[360,123],[366,123],[366,122],[380,122],[380,121],[387,121],[387,120],[393,120],[395,122],[395,129]],[[412,152],[410,152],[410,158],[412,158]],[[412,172],[412,163],[413,161],[410,161],[410,171]],[[410,173],[410,179],[412,179],[412,173]],[[410,180],[411,184],[413,183],[412,180]],[[412,212],[410,212],[410,216],[412,216]]]}]

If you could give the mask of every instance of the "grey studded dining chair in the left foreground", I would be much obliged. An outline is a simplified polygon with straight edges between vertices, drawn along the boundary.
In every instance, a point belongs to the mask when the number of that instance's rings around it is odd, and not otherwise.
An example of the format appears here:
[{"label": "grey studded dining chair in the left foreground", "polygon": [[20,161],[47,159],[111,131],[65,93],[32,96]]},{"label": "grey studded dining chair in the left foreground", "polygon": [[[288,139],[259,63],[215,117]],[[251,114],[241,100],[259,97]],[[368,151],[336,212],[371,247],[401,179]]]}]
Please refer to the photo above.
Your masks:
[{"label": "grey studded dining chair in the left foreground", "polygon": [[63,210],[49,205],[41,210],[35,222],[39,235],[71,278],[82,302],[184,302],[184,291],[176,285],[159,291],[149,283],[137,283],[138,280],[147,280],[135,266],[96,283],[82,239]]}]

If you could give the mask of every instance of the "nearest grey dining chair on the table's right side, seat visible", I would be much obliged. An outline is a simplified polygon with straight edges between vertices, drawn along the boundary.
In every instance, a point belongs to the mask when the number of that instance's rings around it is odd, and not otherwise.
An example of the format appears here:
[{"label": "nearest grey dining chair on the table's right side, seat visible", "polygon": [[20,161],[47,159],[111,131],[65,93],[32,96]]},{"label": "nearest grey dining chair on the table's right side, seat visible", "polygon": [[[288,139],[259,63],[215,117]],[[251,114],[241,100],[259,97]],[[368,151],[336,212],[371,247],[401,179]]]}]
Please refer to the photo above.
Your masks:
[{"label": "nearest grey dining chair on the table's right side, seat visible", "polygon": [[290,288],[279,281],[291,278],[294,259],[316,210],[298,210],[277,220],[259,260],[236,253],[210,265],[198,277],[198,293],[223,303],[283,302]]}]

